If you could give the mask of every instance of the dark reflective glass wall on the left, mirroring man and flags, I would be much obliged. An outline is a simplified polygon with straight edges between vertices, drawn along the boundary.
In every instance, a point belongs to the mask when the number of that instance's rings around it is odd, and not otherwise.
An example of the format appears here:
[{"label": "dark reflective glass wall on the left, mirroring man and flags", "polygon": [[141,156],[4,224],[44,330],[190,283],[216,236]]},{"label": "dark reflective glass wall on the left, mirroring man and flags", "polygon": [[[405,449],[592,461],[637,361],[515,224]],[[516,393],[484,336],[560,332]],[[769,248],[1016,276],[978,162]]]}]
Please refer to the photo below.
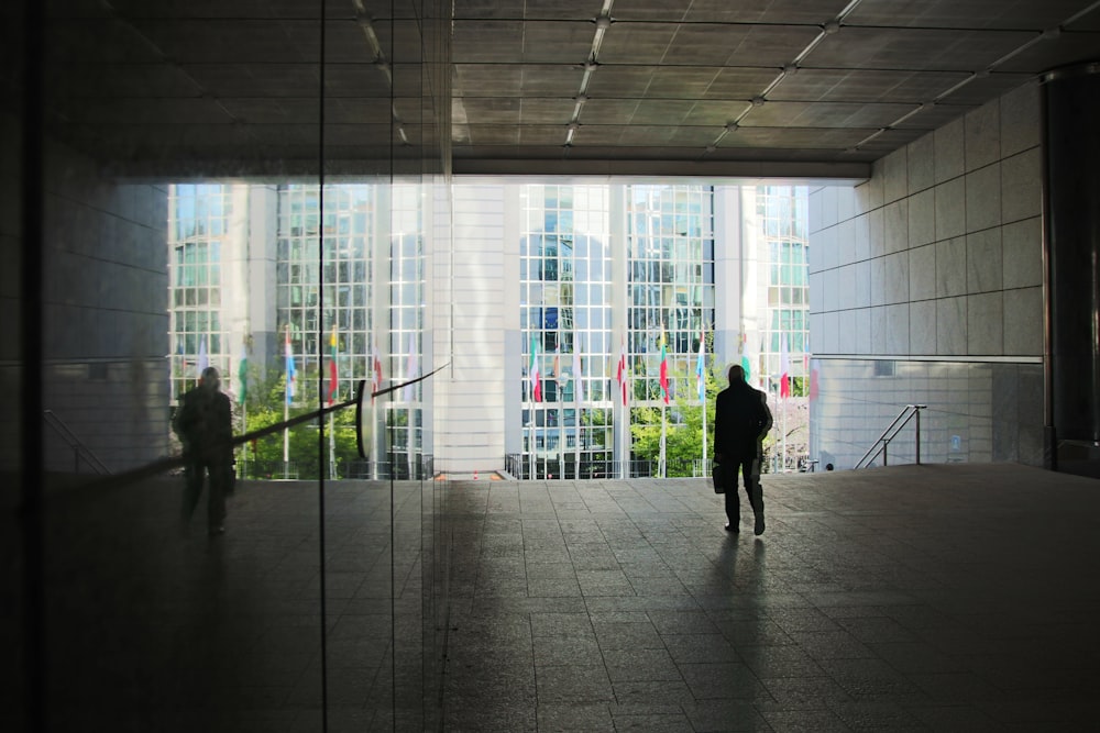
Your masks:
[{"label": "dark reflective glass wall on the left, mirroring man and flags", "polygon": [[[438,729],[430,381],[375,400],[392,430],[367,448],[404,446],[402,476],[324,470],[351,408],[319,413],[376,353],[377,389],[437,358],[420,202],[448,175],[448,7],[16,0],[3,21],[0,245],[24,268],[0,290],[4,728]],[[195,391],[207,366],[223,397]],[[278,454],[292,413],[316,478],[233,468]],[[241,438],[253,417],[271,430]]]}]

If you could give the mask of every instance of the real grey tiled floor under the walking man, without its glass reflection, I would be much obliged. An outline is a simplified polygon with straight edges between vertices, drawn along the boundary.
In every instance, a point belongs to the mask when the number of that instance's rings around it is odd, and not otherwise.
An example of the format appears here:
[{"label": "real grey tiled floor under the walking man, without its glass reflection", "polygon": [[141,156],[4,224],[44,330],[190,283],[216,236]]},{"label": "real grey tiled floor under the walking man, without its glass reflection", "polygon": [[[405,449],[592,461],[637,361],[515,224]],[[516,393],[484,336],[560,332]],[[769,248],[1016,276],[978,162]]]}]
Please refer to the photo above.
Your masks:
[{"label": "real grey tiled floor under the walking man, without its glass reflection", "polygon": [[[454,486],[449,730],[1079,730],[1100,484],[1020,466]],[[747,522],[750,512],[743,511]]]}]

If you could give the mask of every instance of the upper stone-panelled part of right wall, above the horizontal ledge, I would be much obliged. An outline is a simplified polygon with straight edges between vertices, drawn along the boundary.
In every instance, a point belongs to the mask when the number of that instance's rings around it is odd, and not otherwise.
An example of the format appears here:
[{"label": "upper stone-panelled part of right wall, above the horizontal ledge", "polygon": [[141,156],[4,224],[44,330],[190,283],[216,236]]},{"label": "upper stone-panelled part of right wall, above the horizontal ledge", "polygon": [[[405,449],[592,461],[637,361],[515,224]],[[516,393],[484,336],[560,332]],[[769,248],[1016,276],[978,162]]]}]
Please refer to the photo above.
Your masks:
[{"label": "upper stone-panelled part of right wall, above the horizontal ledge", "polygon": [[1041,214],[1033,85],[814,190],[814,353],[1041,357]]}]

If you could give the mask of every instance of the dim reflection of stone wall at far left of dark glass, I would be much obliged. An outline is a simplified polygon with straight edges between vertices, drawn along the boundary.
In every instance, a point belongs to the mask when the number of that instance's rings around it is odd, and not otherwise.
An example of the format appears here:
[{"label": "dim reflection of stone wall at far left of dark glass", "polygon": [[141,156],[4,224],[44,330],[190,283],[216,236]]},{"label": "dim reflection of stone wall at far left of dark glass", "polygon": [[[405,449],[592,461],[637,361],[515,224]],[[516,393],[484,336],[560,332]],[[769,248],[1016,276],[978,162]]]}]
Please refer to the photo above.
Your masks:
[{"label": "dim reflection of stone wall at far left of dark glass", "polygon": [[[18,143],[18,124],[4,122],[4,151]],[[0,158],[8,158],[7,155]],[[16,229],[18,168],[0,179],[10,207],[0,230],[6,274],[0,300],[9,335],[0,338],[0,387],[11,399],[0,408],[0,470],[20,463],[18,321],[23,301],[15,263],[23,247]],[[167,229],[166,188],[119,184],[100,176],[88,158],[48,146],[45,170],[44,278],[41,309],[43,408],[112,471],[166,455],[167,446]],[[45,426],[45,468],[77,468],[74,451]],[[79,470],[90,467],[80,463]]]}]

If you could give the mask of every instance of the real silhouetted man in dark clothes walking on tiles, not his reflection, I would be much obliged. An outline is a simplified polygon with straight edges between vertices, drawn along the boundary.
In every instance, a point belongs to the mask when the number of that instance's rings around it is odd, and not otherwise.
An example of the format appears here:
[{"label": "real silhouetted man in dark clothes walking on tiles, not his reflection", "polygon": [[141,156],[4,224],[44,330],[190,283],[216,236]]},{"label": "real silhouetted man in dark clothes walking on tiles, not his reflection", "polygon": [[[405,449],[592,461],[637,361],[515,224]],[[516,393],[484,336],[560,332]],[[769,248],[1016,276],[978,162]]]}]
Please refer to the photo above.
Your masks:
[{"label": "real silhouetted man in dark clothes walking on tiles, not his reflection", "polygon": [[740,500],[737,474],[745,476],[745,493],[756,517],[754,530],[763,534],[763,489],[760,458],[763,436],[771,430],[767,396],[745,382],[739,366],[729,367],[729,387],[718,392],[714,408],[714,459],[722,464],[725,478],[727,532],[738,532]]}]

